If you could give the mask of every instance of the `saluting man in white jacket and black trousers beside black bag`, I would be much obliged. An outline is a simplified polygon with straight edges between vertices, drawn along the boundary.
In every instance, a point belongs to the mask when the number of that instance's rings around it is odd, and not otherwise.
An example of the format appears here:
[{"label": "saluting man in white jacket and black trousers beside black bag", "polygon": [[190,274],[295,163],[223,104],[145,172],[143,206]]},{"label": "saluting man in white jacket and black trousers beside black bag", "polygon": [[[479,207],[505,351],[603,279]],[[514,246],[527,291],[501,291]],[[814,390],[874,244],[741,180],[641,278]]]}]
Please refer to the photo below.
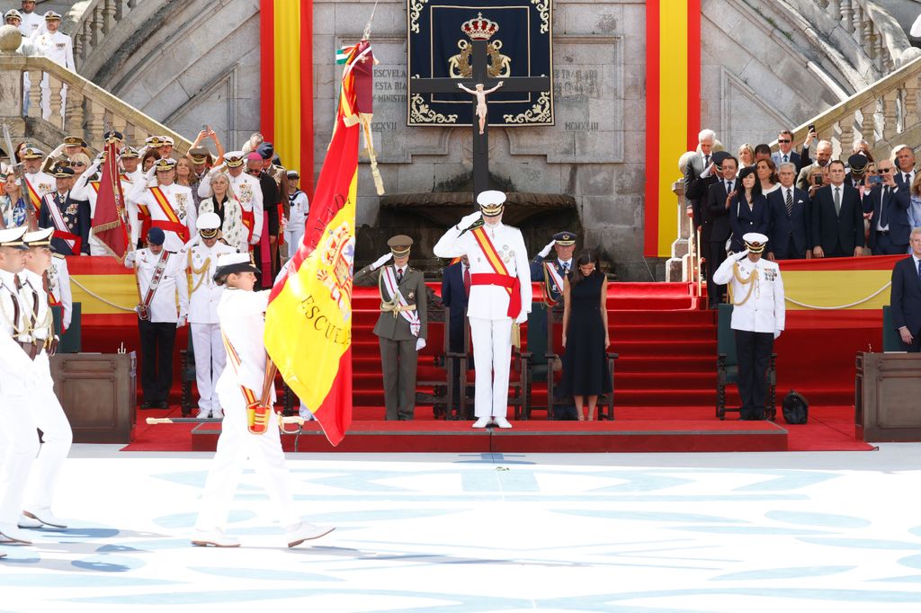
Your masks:
[{"label": "saluting man in white jacket and black trousers beside black bag", "polygon": [[764,419],[766,373],[774,341],[784,330],[784,282],[776,262],[752,261],[750,251],[764,250],[767,237],[750,232],[742,237],[748,250],[729,256],[713,273],[716,283],[729,283],[732,330],[739,359],[740,419]]}]

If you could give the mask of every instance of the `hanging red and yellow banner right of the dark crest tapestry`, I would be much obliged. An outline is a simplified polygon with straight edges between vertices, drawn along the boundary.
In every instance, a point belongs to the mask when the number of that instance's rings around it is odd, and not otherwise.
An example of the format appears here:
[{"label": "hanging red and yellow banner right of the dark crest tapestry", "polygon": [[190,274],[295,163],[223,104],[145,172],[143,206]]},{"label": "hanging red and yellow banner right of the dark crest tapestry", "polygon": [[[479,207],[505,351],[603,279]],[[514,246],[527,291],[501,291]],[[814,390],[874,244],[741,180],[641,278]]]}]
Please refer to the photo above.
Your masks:
[{"label": "hanging red and yellow banner right of the dark crest tapestry", "polygon": [[643,253],[670,256],[678,237],[671,184],[700,131],[700,0],[646,3],[646,219]]}]

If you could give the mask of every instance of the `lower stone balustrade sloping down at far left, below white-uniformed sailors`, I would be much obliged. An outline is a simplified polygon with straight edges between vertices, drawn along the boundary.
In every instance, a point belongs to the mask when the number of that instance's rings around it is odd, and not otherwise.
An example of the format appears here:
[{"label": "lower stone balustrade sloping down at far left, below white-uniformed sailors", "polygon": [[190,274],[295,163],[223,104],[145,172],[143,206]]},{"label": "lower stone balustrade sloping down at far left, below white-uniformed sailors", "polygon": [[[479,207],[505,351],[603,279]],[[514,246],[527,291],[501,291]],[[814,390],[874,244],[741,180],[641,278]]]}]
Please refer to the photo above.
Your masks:
[{"label": "lower stone balustrade sloping down at far left, below white-uniformed sailors", "polygon": [[[22,95],[23,75],[27,74],[30,84],[28,108]],[[49,87],[44,92],[41,87],[42,74],[47,74],[49,79]],[[62,117],[61,90],[64,84],[67,93]],[[38,125],[37,122],[41,121],[46,129],[54,128],[62,134],[81,135],[97,150],[102,148],[102,134],[108,129],[122,132],[127,142],[136,146],[143,145],[146,137],[152,134],[170,136],[175,141],[175,149],[180,153],[185,153],[192,146],[190,141],[162,123],[44,57],[0,54],[0,91],[5,98],[0,115],[26,118],[32,121],[32,125]],[[50,96],[52,112],[48,120],[41,117],[44,96]]]}]

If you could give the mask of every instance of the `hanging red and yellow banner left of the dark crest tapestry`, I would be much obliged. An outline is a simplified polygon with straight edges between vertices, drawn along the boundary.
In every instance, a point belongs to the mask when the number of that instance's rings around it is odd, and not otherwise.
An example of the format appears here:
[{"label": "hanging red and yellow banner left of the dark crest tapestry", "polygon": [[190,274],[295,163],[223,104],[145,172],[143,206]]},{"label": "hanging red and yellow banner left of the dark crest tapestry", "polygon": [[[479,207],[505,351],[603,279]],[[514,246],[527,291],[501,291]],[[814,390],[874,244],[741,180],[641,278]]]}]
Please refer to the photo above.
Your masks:
[{"label": "hanging red and yellow banner left of the dark crest tapestry", "polygon": [[313,0],[261,0],[260,33],[262,135],[312,196]]}]

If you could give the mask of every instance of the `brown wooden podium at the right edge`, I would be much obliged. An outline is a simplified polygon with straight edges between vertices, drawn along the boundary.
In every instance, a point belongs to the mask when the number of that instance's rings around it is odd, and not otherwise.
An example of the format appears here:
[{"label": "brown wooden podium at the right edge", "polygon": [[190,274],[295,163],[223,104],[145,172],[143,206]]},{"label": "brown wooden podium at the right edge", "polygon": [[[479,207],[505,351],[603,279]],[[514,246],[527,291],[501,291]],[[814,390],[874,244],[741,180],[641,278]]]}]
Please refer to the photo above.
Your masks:
[{"label": "brown wooden podium at the right edge", "polygon": [[921,353],[857,353],[857,437],[868,443],[921,441]]}]

